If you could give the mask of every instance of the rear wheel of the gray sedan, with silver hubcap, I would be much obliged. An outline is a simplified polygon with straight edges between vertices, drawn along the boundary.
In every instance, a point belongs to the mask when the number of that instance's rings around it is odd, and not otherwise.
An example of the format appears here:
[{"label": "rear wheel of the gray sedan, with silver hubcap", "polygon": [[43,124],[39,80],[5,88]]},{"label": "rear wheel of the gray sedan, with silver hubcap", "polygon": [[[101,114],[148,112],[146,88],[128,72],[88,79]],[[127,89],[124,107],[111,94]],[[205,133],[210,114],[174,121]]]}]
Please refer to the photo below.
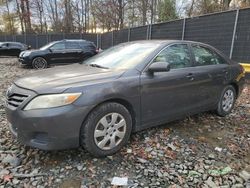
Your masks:
[{"label": "rear wheel of the gray sedan, with silver hubcap", "polygon": [[220,101],[216,110],[217,114],[222,117],[228,115],[234,107],[235,100],[236,91],[234,87],[232,85],[226,86],[221,93]]}]

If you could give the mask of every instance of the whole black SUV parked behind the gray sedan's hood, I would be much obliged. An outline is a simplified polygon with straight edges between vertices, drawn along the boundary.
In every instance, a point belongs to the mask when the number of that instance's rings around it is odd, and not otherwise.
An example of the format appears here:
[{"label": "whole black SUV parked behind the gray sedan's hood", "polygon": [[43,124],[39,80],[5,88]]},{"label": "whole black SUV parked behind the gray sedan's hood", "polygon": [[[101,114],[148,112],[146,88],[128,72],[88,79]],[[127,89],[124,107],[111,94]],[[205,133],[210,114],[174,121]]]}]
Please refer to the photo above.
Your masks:
[{"label": "whole black SUV parked behind the gray sedan's hood", "polygon": [[84,61],[98,53],[93,42],[87,40],[61,40],[51,42],[38,50],[20,54],[22,64],[35,69],[47,68],[50,64],[68,64]]}]

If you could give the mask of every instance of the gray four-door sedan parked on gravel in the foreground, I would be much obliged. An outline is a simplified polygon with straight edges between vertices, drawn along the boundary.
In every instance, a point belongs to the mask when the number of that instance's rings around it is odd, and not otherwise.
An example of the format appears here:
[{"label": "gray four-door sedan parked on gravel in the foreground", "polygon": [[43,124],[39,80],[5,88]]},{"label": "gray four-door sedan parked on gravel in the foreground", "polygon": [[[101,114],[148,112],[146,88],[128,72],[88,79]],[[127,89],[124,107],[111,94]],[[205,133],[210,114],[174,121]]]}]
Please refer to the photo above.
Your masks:
[{"label": "gray four-door sedan parked on gravel in the foreground", "polygon": [[132,132],[209,110],[229,114],[243,84],[242,66],[209,45],[136,41],[15,80],[5,109],[21,143],[101,157]]}]

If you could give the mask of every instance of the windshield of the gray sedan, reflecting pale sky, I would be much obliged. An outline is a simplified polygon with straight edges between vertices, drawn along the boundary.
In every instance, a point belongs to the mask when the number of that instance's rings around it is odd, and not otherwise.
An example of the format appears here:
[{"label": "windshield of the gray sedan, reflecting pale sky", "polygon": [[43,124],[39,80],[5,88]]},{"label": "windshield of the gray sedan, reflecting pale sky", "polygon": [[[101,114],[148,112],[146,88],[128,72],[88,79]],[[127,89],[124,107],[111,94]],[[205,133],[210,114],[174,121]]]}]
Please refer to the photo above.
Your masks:
[{"label": "windshield of the gray sedan, reflecting pale sky", "polygon": [[83,64],[103,68],[130,69],[140,63],[158,46],[159,44],[154,43],[120,44],[84,61]]}]

